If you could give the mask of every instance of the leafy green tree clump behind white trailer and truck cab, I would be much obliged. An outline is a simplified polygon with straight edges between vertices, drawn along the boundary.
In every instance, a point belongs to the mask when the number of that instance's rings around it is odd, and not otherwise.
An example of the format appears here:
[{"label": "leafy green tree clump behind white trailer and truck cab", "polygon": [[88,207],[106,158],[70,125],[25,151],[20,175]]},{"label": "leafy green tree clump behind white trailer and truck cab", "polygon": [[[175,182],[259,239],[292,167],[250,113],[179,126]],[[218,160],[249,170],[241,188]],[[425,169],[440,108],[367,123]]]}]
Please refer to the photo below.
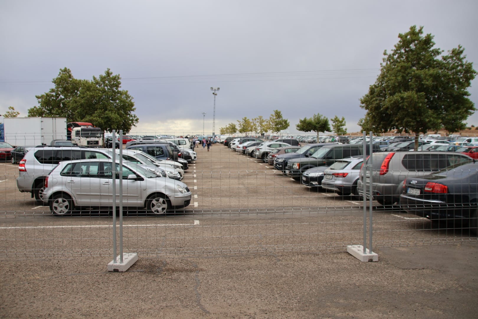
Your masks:
[{"label": "leafy green tree clump behind white trailer and truck cab", "polygon": [[67,121],[91,122],[106,131],[130,132],[138,123],[132,97],[121,89],[120,75],[107,69],[92,80],[76,79],[70,69],[60,70],[48,92],[37,95],[38,106],[28,116],[66,117]]}]

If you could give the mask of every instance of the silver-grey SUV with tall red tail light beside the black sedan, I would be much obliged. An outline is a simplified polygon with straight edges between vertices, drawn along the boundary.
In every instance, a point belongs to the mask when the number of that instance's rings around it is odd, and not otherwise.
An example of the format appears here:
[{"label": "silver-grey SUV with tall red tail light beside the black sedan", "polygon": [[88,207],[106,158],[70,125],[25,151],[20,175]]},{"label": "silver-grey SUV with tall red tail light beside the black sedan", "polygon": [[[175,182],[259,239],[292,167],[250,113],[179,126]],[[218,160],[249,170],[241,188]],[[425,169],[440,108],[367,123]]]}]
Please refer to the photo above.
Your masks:
[{"label": "silver-grey SUV with tall red tail light beside the black sedan", "polygon": [[[370,158],[367,159],[369,165]],[[473,162],[465,154],[456,152],[380,152],[373,153],[372,196],[380,205],[393,205],[400,201],[402,183],[408,176],[424,176],[458,163]],[[360,171],[357,189],[363,196],[363,175]],[[366,194],[369,193],[370,169],[366,173]]]}]

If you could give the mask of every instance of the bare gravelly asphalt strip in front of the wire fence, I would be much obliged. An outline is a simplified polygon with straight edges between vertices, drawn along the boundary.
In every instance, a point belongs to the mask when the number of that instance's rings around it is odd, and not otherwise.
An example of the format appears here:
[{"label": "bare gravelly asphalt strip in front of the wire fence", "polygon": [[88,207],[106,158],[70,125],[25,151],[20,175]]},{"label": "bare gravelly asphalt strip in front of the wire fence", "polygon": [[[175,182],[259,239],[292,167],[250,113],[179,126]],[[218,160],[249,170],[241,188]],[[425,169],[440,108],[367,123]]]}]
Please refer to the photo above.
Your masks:
[{"label": "bare gravelly asphalt strip in front of the wire fence", "polygon": [[478,244],[0,261],[1,318],[476,318]]}]

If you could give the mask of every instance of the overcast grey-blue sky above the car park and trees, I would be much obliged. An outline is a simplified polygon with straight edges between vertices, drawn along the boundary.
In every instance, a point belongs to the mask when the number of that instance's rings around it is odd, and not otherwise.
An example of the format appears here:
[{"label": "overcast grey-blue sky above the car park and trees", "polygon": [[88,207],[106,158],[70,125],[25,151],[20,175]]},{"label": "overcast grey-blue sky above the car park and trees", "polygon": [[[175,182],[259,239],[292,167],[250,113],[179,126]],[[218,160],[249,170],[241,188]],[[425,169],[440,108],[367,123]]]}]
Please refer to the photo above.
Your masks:
[{"label": "overcast grey-blue sky above the car park and trees", "polygon": [[110,68],[135,102],[131,132],[202,132],[203,119],[212,132],[210,87],[216,132],[273,110],[290,132],[316,113],[358,132],[359,99],[410,26],[445,52],[461,44],[478,70],[477,12],[472,0],[1,1],[0,114],[27,116],[63,67],[85,79]]}]

